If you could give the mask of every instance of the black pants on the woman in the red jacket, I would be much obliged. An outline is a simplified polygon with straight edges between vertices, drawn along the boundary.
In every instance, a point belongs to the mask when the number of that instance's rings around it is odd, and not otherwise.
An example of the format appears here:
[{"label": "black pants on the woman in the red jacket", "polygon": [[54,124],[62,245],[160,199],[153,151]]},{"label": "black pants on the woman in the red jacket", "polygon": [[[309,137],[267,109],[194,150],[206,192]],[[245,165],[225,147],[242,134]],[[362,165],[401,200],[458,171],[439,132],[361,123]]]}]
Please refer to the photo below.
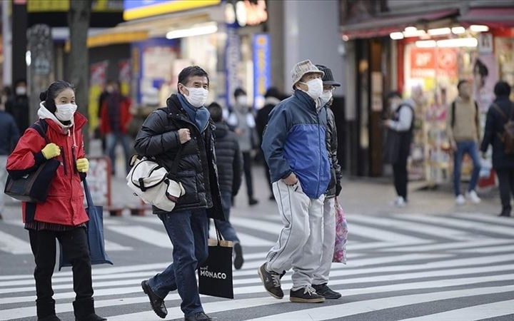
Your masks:
[{"label": "black pants on the woman in the red jacket", "polygon": [[70,258],[73,270],[75,300],[90,299],[93,296],[91,281],[91,259],[86,229],[75,228],[56,232],[52,230],[29,230],[32,253],[36,261],[34,279],[36,280],[36,305],[38,317],[51,315],[55,301],[51,277],[56,263],[56,239],[62,245],[63,252]]}]

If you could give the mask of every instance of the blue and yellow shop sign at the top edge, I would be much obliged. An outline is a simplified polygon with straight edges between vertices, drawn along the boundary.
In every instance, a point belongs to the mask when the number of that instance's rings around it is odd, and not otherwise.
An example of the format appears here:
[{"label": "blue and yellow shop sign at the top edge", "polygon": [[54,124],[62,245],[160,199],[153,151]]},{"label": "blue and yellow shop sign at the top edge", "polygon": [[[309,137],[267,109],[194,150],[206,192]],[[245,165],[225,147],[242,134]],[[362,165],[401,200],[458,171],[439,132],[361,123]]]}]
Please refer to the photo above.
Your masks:
[{"label": "blue and yellow shop sign at the top edge", "polygon": [[220,3],[221,0],[124,0],[124,19],[141,19]]}]

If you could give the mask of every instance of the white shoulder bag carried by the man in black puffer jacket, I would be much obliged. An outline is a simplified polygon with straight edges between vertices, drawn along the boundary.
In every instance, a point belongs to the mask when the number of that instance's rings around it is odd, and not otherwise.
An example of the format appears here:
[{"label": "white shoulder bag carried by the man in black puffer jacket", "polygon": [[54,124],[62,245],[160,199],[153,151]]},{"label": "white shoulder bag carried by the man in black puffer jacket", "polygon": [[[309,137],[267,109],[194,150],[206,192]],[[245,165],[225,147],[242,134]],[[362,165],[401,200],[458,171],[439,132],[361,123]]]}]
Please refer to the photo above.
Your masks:
[{"label": "white shoulder bag carried by the man in black puffer jacket", "polygon": [[175,208],[178,198],[186,193],[180,182],[170,178],[176,176],[178,157],[173,161],[172,173],[146,156],[132,156],[131,166],[126,177],[127,185],[144,203],[170,212]]}]

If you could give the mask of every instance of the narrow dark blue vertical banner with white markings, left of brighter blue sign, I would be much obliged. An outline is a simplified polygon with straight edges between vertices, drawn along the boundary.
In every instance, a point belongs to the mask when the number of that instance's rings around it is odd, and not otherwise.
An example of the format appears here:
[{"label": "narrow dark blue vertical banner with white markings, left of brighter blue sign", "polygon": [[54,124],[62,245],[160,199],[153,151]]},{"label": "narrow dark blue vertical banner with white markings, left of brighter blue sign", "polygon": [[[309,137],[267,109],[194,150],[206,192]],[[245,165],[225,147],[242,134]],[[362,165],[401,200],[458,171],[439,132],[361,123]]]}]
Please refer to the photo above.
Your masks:
[{"label": "narrow dark blue vertical banner with white markings, left of brighter blue sign", "polygon": [[226,32],[227,39],[225,47],[225,106],[233,106],[233,92],[239,86],[238,64],[239,61],[241,61],[241,51],[239,36],[237,34],[237,26],[235,24],[227,25]]}]

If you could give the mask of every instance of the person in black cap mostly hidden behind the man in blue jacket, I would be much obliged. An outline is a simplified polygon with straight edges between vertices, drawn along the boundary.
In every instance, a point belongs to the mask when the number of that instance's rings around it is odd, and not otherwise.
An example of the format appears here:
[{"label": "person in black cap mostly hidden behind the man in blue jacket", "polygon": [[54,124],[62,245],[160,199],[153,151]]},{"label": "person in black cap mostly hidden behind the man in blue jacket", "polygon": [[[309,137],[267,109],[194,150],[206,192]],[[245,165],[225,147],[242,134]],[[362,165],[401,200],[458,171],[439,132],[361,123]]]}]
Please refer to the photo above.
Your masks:
[{"label": "person in black cap mostly hidden behind the man in blue jacket", "polygon": [[323,201],[323,248],[321,263],[313,275],[313,288],[318,295],[323,295],[326,299],[338,299],[341,293],[333,291],[328,287],[328,276],[332,266],[334,245],[336,243],[336,202],[335,199],[341,193],[341,166],[337,158],[337,128],[336,120],[331,110],[333,102],[333,91],[340,87],[341,83],[334,80],[331,68],[323,65],[316,65],[323,71],[323,93],[321,93],[321,105],[326,108],[326,148],[328,157],[331,159],[331,180],[325,193]]}]

